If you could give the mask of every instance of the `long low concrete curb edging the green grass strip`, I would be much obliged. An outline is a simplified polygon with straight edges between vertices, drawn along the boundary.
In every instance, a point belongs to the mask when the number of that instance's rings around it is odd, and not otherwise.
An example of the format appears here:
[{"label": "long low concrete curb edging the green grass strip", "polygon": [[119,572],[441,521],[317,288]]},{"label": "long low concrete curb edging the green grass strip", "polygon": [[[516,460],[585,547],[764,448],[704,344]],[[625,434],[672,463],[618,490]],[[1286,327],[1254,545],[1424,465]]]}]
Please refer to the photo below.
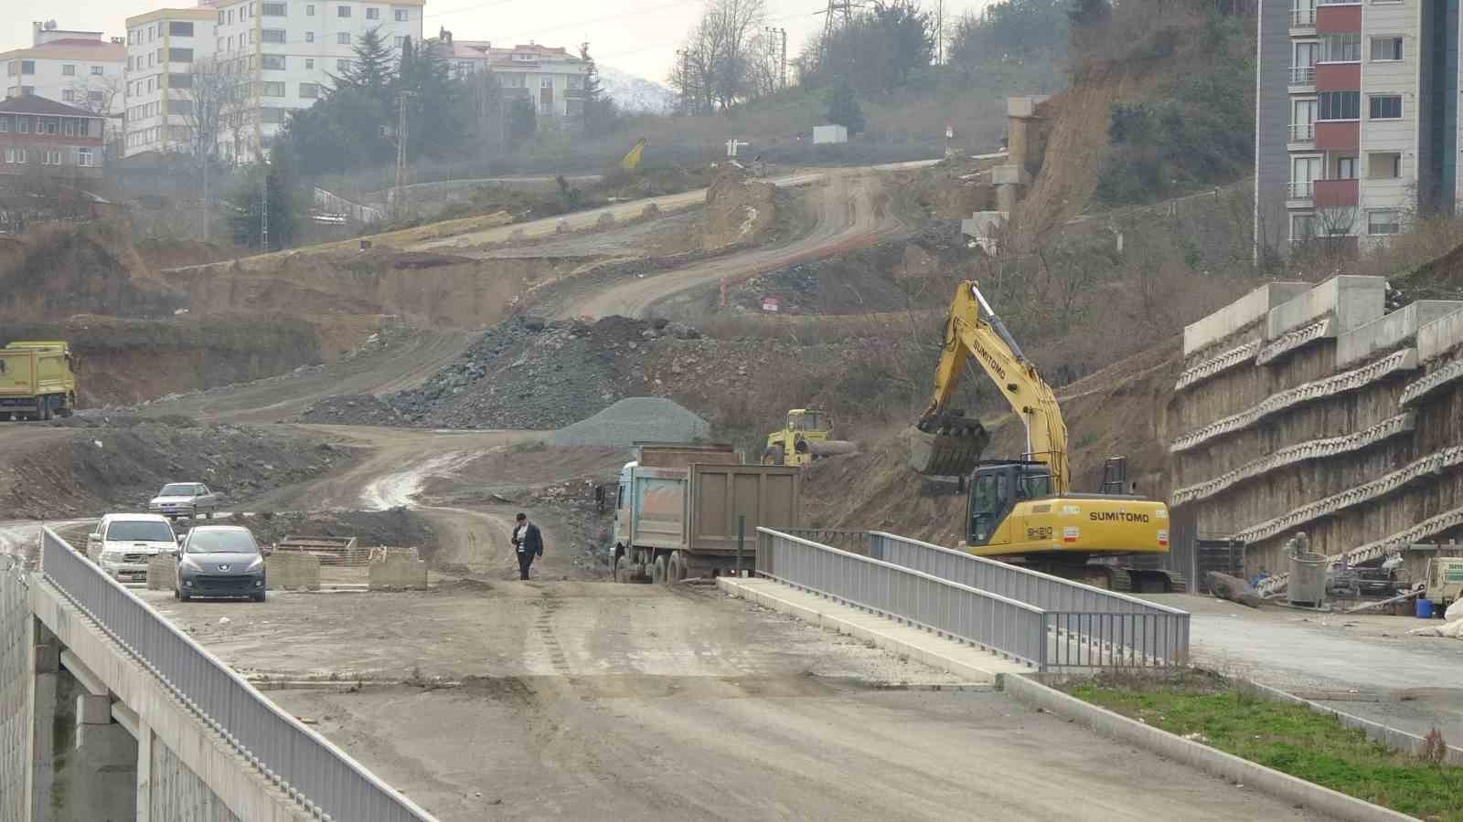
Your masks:
[{"label": "long low concrete curb edging the green grass strip", "polygon": [[1007,676],[1001,687],[1017,701],[1050,711],[1106,737],[1135,744],[1159,756],[1242,784],[1285,802],[1292,802],[1325,819],[1347,822],[1416,822],[1412,816],[1282,774],[1232,753],[1129,720],[1048,687],[1030,677]]}]

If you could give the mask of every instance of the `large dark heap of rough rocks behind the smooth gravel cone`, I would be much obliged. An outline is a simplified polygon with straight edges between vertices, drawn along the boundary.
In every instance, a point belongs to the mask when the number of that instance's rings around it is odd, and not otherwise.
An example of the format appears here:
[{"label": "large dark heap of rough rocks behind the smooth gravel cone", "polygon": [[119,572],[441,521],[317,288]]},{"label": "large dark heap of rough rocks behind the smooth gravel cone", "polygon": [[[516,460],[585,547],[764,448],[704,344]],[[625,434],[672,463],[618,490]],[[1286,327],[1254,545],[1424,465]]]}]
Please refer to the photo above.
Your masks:
[{"label": "large dark heap of rough rocks behind the smooth gravel cone", "polygon": [[652,393],[644,358],[663,336],[693,339],[679,323],[604,317],[514,317],[484,333],[421,388],[386,402],[410,424],[553,430],[626,396]]}]

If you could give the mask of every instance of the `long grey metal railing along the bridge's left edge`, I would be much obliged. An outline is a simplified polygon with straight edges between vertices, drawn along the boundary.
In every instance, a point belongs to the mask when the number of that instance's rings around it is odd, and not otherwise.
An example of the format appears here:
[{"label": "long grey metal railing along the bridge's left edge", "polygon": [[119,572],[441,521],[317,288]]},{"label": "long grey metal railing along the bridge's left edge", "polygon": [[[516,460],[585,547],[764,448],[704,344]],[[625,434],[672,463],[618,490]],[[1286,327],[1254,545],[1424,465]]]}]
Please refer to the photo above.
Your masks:
[{"label": "long grey metal railing along the bridge's left edge", "polygon": [[277,708],[50,528],[41,535],[41,575],[265,778],[316,818],[433,819],[325,737]]}]

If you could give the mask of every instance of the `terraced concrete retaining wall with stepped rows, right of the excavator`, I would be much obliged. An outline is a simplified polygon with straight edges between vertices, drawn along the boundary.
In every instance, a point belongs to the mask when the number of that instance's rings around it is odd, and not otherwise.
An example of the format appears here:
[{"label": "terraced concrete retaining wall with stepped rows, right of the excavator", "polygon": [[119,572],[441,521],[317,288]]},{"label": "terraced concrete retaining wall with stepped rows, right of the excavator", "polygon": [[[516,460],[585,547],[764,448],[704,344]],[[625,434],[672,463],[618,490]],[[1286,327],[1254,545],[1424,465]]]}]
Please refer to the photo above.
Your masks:
[{"label": "terraced concrete retaining wall with stepped rows, right of the excavator", "polygon": [[1381,279],[1364,276],[1283,297],[1251,293],[1195,323],[1227,336],[1185,336],[1170,505],[1204,537],[1245,541],[1249,572],[1282,569],[1299,529],[1353,560],[1463,537],[1463,303],[1384,314]]}]

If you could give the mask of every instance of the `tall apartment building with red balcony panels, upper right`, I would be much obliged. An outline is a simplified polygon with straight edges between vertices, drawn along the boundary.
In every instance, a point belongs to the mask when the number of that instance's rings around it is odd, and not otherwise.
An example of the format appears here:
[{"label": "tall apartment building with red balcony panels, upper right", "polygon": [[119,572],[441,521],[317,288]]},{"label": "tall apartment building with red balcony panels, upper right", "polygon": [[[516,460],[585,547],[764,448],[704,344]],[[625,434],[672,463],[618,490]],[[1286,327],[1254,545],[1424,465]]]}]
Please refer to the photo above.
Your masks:
[{"label": "tall apartment building with red balcony panels, upper right", "polygon": [[1261,0],[1255,253],[1385,243],[1457,192],[1459,16],[1440,0]]}]

